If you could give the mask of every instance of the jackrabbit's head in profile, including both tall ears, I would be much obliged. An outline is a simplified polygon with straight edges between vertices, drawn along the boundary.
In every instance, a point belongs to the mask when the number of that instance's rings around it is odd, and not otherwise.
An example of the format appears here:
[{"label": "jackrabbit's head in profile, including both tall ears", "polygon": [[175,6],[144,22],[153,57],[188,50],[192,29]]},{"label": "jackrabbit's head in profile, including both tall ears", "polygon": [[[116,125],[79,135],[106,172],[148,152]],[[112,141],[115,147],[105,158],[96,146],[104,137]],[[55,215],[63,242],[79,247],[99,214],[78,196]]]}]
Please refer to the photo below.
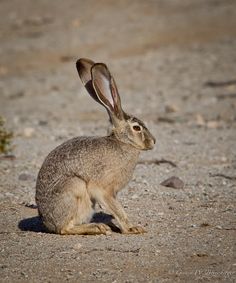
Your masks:
[{"label": "jackrabbit's head in profile, including both tall ears", "polygon": [[82,58],[76,62],[76,67],[90,96],[106,108],[113,125],[112,134],[137,149],[152,149],[155,138],[142,121],[123,111],[115,80],[107,66]]}]

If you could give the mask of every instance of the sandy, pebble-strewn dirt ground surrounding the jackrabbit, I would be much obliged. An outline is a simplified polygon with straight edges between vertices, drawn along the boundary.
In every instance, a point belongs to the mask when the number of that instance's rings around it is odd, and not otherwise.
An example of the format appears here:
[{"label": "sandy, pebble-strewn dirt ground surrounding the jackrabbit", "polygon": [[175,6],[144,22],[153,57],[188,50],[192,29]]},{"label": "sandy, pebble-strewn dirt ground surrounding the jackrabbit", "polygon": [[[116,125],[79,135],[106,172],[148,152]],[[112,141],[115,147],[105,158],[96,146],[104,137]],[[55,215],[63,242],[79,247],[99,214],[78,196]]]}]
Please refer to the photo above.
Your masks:
[{"label": "sandy, pebble-strewn dirt ground surrounding the jackrabbit", "polygon": [[[236,2],[0,1],[0,282],[236,282]],[[105,62],[157,139],[119,199],[144,235],[45,233],[37,172],[56,145],[104,135],[77,58]],[[169,163],[158,160],[171,161]],[[160,185],[177,176],[183,189]]]}]

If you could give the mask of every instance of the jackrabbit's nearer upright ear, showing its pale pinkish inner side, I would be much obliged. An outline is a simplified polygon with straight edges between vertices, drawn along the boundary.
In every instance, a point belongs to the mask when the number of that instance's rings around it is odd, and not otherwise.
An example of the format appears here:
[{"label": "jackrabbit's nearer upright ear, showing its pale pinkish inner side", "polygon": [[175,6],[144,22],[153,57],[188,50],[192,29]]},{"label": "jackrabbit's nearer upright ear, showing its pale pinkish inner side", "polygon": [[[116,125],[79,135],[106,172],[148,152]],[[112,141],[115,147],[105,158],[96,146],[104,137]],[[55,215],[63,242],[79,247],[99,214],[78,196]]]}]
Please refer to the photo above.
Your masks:
[{"label": "jackrabbit's nearer upright ear, showing its pale pinkish inner side", "polygon": [[107,66],[96,63],[91,68],[92,84],[100,103],[109,111],[111,116],[122,120],[124,112],[121,108],[121,100],[114,78]]}]

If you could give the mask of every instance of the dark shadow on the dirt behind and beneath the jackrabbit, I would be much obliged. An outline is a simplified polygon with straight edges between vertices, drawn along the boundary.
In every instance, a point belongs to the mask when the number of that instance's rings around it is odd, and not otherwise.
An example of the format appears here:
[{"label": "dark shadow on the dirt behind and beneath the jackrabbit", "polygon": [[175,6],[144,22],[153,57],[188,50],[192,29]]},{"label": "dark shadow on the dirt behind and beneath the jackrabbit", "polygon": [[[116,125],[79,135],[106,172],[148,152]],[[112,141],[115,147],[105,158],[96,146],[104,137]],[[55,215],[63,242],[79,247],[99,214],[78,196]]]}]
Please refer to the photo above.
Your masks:
[{"label": "dark shadow on the dirt behind and beneath the jackrabbit", "polygon": [[[104,212],[97,212],[93,215],[91,223],[107,224],[113,232],[120,233],[120,229],[112,222],[113,217]],[[18,227],[21,231],[31,231],[35,233],[48,233],[39,216],[22,219]]]}]

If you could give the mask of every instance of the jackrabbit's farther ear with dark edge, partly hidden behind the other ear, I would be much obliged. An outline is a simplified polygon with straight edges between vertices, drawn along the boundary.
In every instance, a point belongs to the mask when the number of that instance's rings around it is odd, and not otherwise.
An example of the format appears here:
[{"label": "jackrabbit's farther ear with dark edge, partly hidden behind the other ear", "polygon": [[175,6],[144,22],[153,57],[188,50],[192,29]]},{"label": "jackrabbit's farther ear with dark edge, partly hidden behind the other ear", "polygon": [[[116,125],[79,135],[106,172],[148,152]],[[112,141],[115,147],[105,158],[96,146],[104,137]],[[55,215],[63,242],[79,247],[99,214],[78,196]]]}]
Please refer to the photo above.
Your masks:
[{"label": "jackrabbit's farther ear with dark edge, partly hidden behind the other ear", "polygon": [[92,78],[91,78],[91,68],[95,63],[92,60],[81,58],[76,62],[76,68],[79,74],[79,77],[86,88],[87,92],[90,96],[96,100],[97,102],[101,103],[97,97],[97,94],[93,88]]}]

